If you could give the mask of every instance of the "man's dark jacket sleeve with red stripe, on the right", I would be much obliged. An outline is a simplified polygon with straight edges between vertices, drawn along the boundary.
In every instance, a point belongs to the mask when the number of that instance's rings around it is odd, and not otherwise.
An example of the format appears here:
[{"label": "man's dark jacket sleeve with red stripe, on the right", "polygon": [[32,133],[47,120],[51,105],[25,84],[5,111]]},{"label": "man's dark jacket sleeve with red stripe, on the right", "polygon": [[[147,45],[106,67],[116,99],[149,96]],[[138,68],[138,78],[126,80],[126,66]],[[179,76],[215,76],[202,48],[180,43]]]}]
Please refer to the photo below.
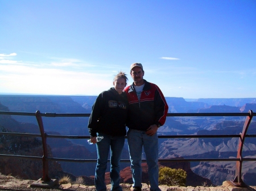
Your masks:
[{"label": "man's dark jacket sleeve with red stripe, on the right", "polygon": [[158,86],[156,86],[154,101],[155,101],[155,113],[156,113],[155,124],[162,126],[166,122],[168,105],[162,91]]}]

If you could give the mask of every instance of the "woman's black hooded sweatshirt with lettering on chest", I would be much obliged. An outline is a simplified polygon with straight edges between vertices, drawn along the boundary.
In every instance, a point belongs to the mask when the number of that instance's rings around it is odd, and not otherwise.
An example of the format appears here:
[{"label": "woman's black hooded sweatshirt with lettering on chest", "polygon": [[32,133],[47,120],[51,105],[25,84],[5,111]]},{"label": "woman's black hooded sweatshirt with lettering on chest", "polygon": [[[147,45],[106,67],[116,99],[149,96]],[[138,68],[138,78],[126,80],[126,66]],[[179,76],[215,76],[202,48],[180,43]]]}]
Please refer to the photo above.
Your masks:
[{"label": "woman's black hooded sweatshirt with lettering on chest", "polygon": [[90,136],[125,136],[128,105],[125,92],[119,95],[113,87],[98,95],[88,122]]}]

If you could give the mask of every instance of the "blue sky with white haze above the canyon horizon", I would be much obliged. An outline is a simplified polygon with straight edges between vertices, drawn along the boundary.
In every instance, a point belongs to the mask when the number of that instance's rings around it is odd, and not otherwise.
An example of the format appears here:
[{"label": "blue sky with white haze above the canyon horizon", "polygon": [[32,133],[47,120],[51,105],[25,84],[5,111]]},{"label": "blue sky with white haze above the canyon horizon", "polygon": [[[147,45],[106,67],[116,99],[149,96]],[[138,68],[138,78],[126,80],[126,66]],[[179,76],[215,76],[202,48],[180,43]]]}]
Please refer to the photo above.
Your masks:
[{"label": "blue sky with white haze above the canyon horizon", "polygon": [[142,63],[166,97],[256,97],[255,0],[0,0],[0,94],[98,95]]}]

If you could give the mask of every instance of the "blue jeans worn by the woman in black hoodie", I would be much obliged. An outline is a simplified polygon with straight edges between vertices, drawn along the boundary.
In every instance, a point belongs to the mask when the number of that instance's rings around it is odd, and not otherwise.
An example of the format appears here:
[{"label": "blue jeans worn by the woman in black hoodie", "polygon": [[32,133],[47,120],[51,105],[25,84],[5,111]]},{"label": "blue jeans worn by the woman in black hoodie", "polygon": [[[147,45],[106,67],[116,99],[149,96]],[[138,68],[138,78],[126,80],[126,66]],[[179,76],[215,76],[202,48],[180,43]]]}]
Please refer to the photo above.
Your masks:
[{"label": "blue jeans worn by the woman in black hoodie", "polygon": [[123,145],[125,145],[125,137],[111,136],[106,134],[98,134],[98,136],[103,136],[104,138],[100,142],[96,143],[98,155],[94,179],[96,190],[106,190],[105,172],[107,168],[110,148],[110,181],[112,185],[111,190],[122,191],[122,187],[119,185],[119,162],[121,159]]}]

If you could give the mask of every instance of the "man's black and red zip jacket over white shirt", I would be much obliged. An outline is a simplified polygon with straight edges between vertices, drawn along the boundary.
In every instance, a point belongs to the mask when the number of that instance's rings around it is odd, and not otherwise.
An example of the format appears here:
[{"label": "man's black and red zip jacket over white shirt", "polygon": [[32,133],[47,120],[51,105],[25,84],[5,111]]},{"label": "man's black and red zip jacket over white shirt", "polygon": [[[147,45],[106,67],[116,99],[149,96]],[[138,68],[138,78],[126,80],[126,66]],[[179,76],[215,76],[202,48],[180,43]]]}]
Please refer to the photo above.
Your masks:
[{"label": "man's black and red zip jacket over white shirt", "polygon": [[138,100],[134,83],[125,88],[129,100],[129,118],[127,126],[130,129],[146,131],[150,125],[164,125],[168,105],[162,91],[154,83],[144,80],[145,85]]}]

